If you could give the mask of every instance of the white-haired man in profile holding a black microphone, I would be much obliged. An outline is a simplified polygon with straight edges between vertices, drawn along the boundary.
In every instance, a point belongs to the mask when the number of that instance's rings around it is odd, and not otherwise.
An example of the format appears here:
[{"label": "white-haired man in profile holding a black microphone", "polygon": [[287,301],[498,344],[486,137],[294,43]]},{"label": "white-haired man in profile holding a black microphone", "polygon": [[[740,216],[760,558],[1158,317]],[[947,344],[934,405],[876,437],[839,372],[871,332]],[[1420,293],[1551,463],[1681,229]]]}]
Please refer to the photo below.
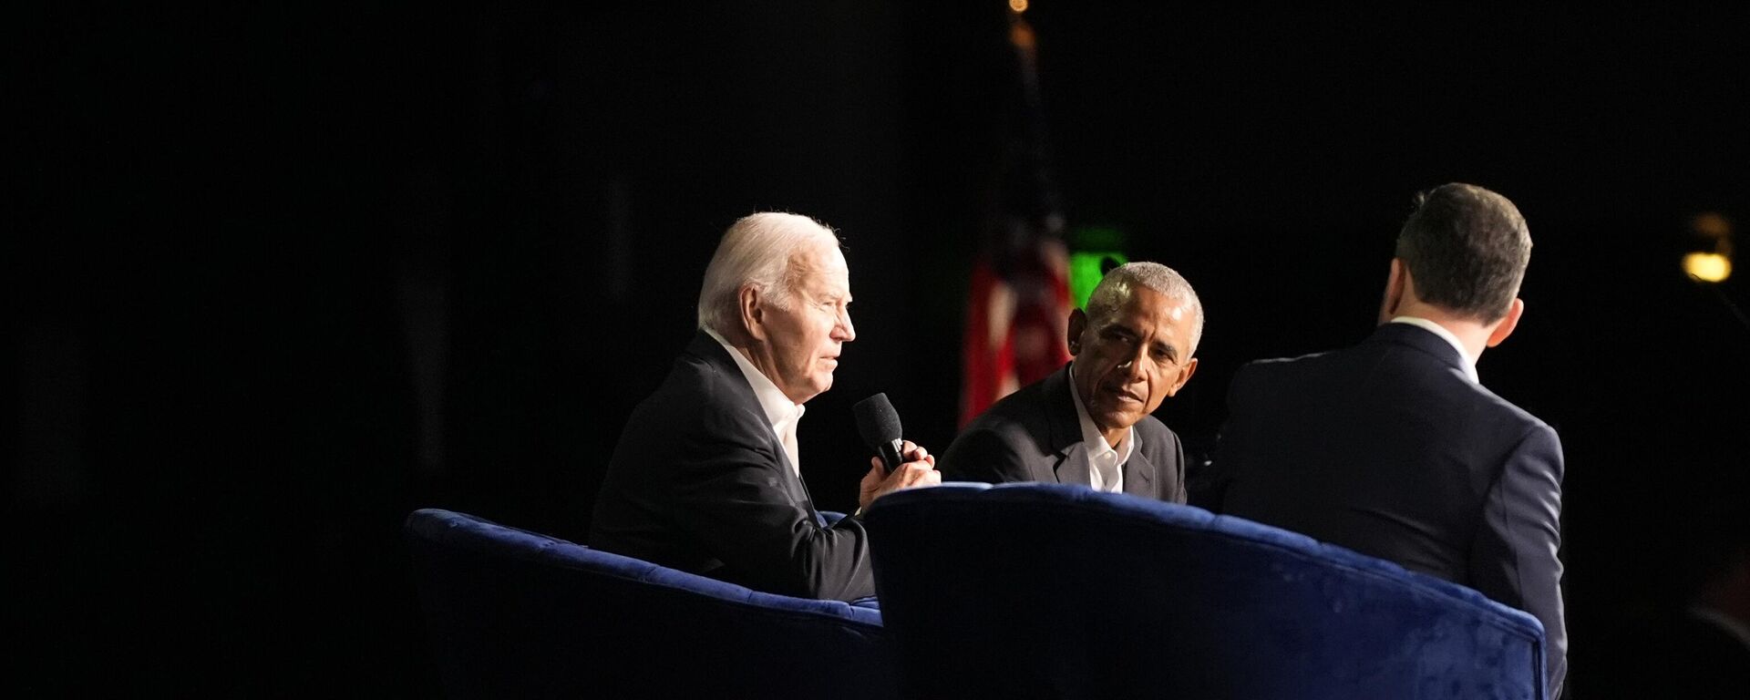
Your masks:
[{"label": "white-haired man in profile holding a black microphone", "polygon": [[[828,522],[802,483],[796,422],[833,387],[850,326],[850,275],[817,220],[761,212],[718,243],[698,294],[698,332],[644,399],[607,464],[590,546],[747,588],[856,600],[875,595],[856,516]],[[859,506],[934,485],[936,458],[906,441],[880,457]]]}]

